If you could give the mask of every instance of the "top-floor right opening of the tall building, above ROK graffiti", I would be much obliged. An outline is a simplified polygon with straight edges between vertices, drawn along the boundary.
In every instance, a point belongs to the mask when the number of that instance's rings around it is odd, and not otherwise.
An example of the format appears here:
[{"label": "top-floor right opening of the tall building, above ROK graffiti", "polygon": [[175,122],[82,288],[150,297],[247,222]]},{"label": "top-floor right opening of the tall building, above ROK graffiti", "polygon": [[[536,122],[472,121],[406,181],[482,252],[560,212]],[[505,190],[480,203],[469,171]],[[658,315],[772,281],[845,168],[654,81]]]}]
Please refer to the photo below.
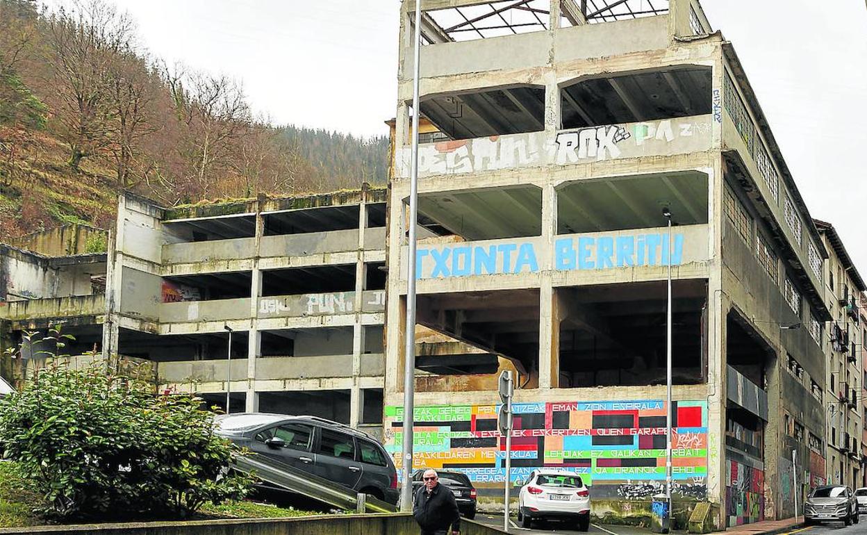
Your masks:
[{"label": "top-floor right opening of the tall building, above ROK graffiti", "polygon": [[710,67],[672,67],[583,80],[561,89],[564,128],[711,113]]}]

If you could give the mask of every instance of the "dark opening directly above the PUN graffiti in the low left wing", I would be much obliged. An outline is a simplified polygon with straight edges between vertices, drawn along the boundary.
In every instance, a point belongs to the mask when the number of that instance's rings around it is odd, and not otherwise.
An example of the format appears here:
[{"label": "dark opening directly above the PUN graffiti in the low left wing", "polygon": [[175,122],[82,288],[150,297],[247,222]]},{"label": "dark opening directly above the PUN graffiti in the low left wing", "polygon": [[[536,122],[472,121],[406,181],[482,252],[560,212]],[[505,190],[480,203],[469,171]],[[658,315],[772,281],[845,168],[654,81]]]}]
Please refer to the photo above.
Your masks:
[{"label": "dark opening directly above the PUN graffiti in the low left wing", "polygon": [[262,296],[355,291],[355,264],[318,265],[262,272]]}]

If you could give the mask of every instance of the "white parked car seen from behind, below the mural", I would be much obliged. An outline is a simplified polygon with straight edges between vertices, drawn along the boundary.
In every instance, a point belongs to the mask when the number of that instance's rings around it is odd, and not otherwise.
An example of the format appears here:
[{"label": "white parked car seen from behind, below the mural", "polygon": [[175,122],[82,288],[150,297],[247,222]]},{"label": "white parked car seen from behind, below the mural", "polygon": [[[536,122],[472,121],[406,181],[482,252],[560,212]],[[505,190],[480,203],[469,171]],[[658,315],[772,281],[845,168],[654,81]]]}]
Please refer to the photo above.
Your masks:
[{"label": "white parked car seen from behind, below the mural", "polygon": [[590,529],[590,491],[581,476],[566,470],[534,470],[518,493],[518,522],[529,528],[535,520],[563,519]]}]

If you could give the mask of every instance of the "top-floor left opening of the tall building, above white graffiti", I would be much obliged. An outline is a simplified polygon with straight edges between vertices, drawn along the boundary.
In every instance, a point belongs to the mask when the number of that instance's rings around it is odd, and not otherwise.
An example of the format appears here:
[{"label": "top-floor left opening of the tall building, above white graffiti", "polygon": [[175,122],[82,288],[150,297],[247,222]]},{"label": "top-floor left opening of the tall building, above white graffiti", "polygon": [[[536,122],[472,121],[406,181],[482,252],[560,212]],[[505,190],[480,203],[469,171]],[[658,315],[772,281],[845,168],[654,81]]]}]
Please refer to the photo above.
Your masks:
[{"label": "top-floor left opening of the tall building, above white graffiti", "polygon": [[429,96],[420,108],[452,140],[544,130],[544,88],[537,86]]}]

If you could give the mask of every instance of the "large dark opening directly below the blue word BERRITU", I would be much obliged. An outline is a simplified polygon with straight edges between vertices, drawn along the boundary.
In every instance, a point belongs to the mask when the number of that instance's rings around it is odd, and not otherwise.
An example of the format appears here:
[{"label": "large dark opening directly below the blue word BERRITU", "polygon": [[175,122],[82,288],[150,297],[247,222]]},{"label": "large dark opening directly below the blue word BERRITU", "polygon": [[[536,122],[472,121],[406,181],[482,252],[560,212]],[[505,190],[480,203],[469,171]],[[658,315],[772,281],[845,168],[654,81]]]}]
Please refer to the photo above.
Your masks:
[{"label": "large dark opening directly below the blue word BERRITU", "polygon": [[[707,283],[674,283],[673,380],[705,381],[703,338]],[[666,383],[667,293],[664,282],[557,290],[560,387]]]}]

